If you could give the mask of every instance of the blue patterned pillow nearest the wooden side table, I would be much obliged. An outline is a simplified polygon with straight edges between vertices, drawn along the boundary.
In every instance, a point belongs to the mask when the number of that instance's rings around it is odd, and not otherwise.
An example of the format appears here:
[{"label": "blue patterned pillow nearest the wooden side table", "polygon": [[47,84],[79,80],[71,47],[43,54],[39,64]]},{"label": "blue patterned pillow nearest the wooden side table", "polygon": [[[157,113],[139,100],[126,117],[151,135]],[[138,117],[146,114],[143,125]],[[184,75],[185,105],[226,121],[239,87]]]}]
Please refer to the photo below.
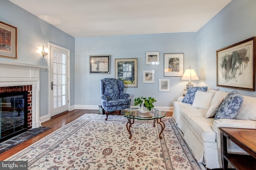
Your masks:
[{"label": "blue patterned pillow nearest the wooden side table", "polygon": [[220,105],[214,119],[234,119],[244,101],[236,90],[230,92]]}]

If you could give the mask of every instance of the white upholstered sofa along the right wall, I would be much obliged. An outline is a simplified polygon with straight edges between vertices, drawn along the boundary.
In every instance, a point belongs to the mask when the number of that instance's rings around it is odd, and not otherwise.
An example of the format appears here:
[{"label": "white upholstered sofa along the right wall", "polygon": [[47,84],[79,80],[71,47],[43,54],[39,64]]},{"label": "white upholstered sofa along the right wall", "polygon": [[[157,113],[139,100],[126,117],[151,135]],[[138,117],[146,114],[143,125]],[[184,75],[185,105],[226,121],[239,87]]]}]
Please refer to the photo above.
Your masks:
[{"label": "white upholstered sofa along the right wall", "polygon": [[[221,98],[225,98],[228,94],[223,91],[208,91],[214,93],[210,105],[215,104]],[[180,131],[182,131],[184,140],[192,150],[196,160],[203,163],[206,168],[222,168],[219,127],[256,129],[256,98],[243,96],[244,101],[234,119],[216,120],[214,120],[214,117],[205,117],[207,109],[198,109],[193,107],[192,104],[182,103],[183,98],[179,97],[173,103],[172,117]],[[201,100],[204,102],[204,98]],[[198,101],[196,102],[198,103]],[[246,154],[229,140],[228,150],[234,153]]]}]

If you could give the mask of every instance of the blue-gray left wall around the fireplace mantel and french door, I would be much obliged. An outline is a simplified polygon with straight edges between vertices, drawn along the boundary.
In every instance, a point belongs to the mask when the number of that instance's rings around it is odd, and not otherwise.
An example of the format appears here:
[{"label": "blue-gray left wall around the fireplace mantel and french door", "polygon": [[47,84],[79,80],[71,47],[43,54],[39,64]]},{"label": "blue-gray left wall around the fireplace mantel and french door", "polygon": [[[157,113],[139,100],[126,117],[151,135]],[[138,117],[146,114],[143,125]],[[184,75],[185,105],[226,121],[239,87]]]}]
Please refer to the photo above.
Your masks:
[{"label": "blue-gray left wall around the fireplace mantel and french door", "polygon": [[50,25],[8,0],[0,0],[0,21],[18,28],[18,59],[0,57],[0,61],[41,66],[40,69],[40,116],[48,115],[48,56],[42,57],[38,48],[48,42],[70,49],[71,105],[74,105],[74,57],[75,38]]}]

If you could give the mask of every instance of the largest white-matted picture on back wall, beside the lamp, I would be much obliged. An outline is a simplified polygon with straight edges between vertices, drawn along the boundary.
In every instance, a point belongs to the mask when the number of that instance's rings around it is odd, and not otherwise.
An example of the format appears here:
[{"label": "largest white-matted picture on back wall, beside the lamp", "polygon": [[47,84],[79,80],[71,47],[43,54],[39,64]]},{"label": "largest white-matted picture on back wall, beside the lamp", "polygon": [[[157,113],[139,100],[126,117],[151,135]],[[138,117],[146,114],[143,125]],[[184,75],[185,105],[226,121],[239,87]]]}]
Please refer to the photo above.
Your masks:
[{"label": "largest white-matted picture on back wall, beside the lamp", "polygon": [[164,54],[164,76],[182,77],[184,72],[184,54]]}]

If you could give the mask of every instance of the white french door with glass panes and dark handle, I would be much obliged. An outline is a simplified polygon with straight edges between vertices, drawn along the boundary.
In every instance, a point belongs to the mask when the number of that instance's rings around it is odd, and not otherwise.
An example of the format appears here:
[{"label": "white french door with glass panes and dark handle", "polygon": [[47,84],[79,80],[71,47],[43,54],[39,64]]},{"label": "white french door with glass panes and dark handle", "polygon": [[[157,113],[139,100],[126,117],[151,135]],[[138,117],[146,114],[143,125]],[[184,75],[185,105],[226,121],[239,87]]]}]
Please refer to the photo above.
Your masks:
[{"label": "white french door with glass panes and dark handle", "polygon": [[69,50],[50,44],[51,117],[69,109]]}]

